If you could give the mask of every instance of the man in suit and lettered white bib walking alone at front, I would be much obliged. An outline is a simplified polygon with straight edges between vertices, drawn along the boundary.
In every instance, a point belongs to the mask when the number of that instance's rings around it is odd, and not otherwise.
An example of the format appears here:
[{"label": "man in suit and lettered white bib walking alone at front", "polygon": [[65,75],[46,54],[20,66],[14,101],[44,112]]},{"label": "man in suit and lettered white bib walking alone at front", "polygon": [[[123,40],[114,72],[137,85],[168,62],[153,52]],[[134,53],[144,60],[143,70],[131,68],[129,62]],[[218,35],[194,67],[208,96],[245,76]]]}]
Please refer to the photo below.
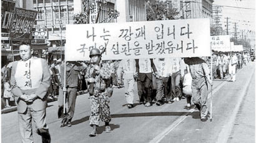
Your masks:
[{"label": "man in suit and lettered white bib walking alone at front", "polygon": [[17,101],[17,113],[22,142],[33,142],[32,121],[42,142],[51,142],[46,124],[46,93],[51,84],[46,60],[32,56],[29,42],[19,44],[21,60],[12,65],[11,91]]}]

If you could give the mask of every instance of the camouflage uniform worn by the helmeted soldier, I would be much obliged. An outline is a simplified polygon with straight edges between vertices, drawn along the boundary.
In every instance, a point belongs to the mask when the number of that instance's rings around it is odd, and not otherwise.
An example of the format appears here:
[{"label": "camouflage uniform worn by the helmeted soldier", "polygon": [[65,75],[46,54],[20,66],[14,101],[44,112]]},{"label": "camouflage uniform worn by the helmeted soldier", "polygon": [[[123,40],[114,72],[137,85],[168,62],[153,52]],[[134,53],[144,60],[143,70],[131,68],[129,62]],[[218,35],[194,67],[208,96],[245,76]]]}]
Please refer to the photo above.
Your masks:
[{"label": "camouflage uniform worn by the helmeted soldier", "polygon": [[[89,65],[86,71],[86,78],[92,78],[92,73],[97,65]],[[96,71],[94,93],[90,95],[91,116],[89,118],[90,125],[99,126],[99,120],[104,122],[111,121],[109,109],[109,90],[112,90],[112,67],[108,63],[102,63],[100,71]],[[90,84],[87,84],[88,88]]]}]

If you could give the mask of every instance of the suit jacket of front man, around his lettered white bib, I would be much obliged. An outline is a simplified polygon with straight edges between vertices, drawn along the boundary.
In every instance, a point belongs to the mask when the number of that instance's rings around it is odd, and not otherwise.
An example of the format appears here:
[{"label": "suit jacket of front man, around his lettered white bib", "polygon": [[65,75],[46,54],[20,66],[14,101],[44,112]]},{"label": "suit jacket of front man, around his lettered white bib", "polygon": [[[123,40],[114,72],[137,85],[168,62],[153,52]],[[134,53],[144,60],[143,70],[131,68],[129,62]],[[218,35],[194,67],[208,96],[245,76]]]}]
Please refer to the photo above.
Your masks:
[{"label": "suit jacket of front man, around his lettered white bib", "polygon": [[[37,57],[32,57],[32,60]],[[15,73],[16,73],[16,68],[17,68],[17,63],[15,62],[12,65],[12,71],[11,71],[11,89],[12,93],[17,101],[17,112],[18,113],[24,113],[27,109],[28,105],[31,105],[31,108],[34,111],[40,111],[43,109],[46,109],[47,106],[47,96],[46,93],[49,89],[49,86],[51,84],[50,80],[50,71],[49,71],[49,66],[47,65],[46,60],[41,59],[41,65],[42,65],[42,80],[39,85],[39,88],[32,89],[32,90],[21,90],[19,86],[17,86],[16,79],[15,79]],[[31,69],[31,72],[33,69]],[[17,71],[19,72],[19,71]],[[38,98],[36,98],[32,103],[26,103],[23,101],[21,98],[19,98],[23,94],[31,95],[35,93]]]}]

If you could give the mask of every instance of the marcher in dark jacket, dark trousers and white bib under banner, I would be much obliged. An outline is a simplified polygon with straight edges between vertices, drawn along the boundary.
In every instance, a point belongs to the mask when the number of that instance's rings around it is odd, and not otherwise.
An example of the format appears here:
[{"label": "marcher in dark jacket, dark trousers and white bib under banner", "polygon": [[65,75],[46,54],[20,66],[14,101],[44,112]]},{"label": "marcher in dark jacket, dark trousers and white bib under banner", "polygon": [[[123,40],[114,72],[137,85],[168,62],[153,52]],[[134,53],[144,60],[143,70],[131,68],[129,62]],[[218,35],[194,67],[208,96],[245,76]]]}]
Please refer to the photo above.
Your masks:
[{"label": "marcher in dark jacket, dark trousers and white bib under banner", "polygon": [[152,69],[156,74],[152,58],[135,59],[136,72],[138,73],[137,86],[140,103],[145,102],[145,106],[151,106],[151,93],[152,93]]}]

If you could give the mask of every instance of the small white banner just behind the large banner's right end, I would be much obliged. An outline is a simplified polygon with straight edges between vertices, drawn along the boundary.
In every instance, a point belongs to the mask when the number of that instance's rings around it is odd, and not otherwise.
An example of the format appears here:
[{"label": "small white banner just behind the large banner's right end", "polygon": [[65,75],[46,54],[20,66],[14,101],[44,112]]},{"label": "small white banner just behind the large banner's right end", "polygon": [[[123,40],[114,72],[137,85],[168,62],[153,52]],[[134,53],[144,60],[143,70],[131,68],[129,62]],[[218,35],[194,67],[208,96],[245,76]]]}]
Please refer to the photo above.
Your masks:
[{"label": "small white banner just behind the large banner's right end", "polygon": [[212,50],[230,52],[230,35],[215,35],[210,37]]}]

